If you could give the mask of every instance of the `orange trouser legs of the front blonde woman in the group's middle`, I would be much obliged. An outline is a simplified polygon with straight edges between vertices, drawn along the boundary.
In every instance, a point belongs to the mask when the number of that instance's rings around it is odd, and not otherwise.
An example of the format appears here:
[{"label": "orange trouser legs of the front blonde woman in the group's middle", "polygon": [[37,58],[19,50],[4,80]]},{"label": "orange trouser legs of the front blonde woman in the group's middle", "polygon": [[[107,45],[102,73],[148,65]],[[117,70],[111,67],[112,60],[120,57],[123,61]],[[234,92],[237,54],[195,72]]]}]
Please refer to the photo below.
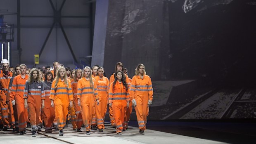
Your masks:
[{"label": "orange trouser legs of the front blonde woman in the group's middle", "polygon": [[94,96],[81,96],[81,109],[85,130],[90,131],[93,118],[93,107],[95,107]]}]

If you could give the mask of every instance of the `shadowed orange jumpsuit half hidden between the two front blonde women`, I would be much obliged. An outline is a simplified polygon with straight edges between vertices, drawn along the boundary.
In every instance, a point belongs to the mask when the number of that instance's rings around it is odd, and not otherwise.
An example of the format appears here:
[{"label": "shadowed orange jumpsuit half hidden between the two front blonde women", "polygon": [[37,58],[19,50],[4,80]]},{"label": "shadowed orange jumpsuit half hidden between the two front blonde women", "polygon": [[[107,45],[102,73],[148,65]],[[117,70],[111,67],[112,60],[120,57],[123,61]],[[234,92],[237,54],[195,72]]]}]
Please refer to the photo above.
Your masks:
[{"label": "shadowed orange jumpsuit half hidden between the two front blonde women", "polygon": [[[76,81],[79,79],[77,78]],[[75,82],[73,79],[71,80],[71,87],[73,91],[73,107],[76,111],[76,126],[78,129],[81,129],[81,126],[83,125],[83,117],[81,113],[81,108],[78,106],[78,99],[77,99],[77,82]]]}]

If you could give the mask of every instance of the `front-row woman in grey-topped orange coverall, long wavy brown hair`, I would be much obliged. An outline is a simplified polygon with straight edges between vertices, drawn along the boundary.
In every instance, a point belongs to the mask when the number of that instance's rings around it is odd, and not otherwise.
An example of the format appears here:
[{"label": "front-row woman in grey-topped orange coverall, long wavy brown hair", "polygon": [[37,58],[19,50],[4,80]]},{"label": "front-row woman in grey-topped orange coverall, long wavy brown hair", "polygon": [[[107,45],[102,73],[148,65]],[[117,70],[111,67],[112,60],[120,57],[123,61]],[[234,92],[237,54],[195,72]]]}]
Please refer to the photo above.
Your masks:
[{"label": "front-row woman in grey-topped orange coverall, long wavy brown hair", "polygon": [[36,137],[38,128],[41,128],[39,126],[41,104],[42,108],[45,107],[45,91],[37,68],[33,68],[29,73],[29,79],[26,82],[23,98],[25,99],[25,108],[28,108],[32,137]]}]

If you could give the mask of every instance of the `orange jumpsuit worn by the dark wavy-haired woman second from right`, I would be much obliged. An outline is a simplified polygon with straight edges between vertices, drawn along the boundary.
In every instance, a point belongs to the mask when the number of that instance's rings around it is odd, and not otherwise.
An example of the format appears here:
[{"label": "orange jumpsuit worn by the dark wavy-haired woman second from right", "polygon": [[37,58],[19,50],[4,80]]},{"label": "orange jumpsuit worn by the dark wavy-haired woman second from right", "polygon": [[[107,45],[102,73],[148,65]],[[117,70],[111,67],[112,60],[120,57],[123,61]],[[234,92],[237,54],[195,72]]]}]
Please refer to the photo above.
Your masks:
[{"label": "orange jumpsuit worn by the dark wavy-haired woman second from right", "polygon": [[124,121],[124,116],[126,114],[127,102],[130,102],[129,89],[118,81],[114,85],[111,83],[109,87],[109,104],[112,103],[112,108],[115,116],[116,132],[122,132],[126,123]]}]

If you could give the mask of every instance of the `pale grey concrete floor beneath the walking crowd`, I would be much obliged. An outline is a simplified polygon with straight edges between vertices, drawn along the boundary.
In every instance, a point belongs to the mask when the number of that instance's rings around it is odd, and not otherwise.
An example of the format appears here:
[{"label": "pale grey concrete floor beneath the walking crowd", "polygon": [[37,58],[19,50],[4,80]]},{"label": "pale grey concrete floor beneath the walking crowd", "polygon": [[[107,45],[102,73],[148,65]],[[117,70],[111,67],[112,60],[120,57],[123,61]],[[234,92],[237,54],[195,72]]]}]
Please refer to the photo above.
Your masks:
[{"label": "pale grey concrete floor beneath the walking crowd", "polygon": [[0,144],[85,144],[88,142],[94,144],[228,144],[155,130],[146,130],[145,135],[140,135],[137,127],[129,127],[123,135],[116,135],[115,129],[109,124],[105,125],[105,128],[104,132],[92,130],[91,135],[86,135],[85,128],[82,127],[83,132],[76,132],[69,124],[69,127],[64,129],[64,136],[59,136],[58,131],[46,134],[43,128],[36,137],[31,137],[30,128],[27,128],[28,132],[25,135],[19,135],[12,132],[12,129],[8,129],[8,131],[0,131]]}]

